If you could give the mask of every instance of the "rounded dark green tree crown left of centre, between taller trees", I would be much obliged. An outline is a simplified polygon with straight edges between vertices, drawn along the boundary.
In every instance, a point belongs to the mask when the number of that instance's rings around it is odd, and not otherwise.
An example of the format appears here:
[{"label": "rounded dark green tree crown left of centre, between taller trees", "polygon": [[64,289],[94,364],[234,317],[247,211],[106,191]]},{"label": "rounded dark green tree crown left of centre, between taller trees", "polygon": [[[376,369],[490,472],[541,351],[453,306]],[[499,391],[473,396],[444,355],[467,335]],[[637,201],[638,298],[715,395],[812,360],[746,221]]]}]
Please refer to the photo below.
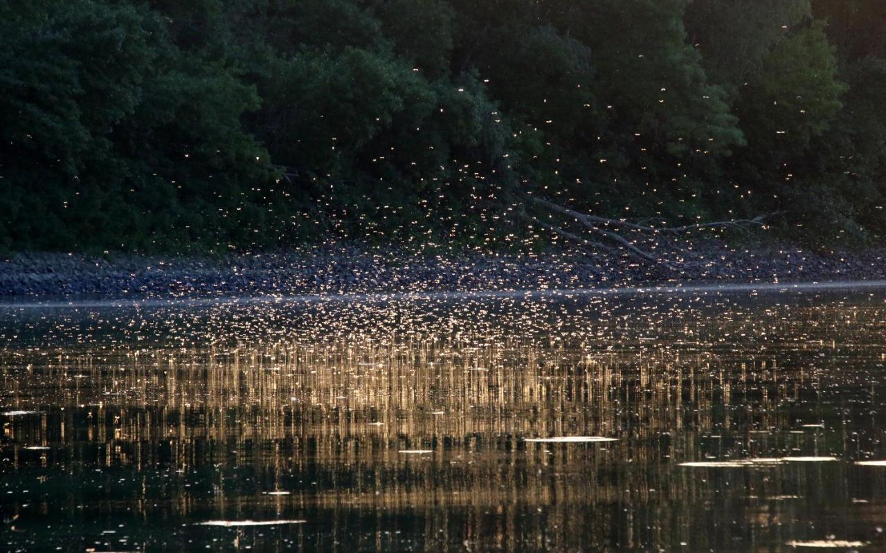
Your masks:
[{"label": "rounded dark green tree crown left of centre, between taller trees", "polygon": [[268,120],[284,117],[265,137],[277,161],[314,175],[354,170],[355,154],[395,119],[418,122],[432,108],[427,82],[369,51],[308,49],[277,63],[262,90]]}]

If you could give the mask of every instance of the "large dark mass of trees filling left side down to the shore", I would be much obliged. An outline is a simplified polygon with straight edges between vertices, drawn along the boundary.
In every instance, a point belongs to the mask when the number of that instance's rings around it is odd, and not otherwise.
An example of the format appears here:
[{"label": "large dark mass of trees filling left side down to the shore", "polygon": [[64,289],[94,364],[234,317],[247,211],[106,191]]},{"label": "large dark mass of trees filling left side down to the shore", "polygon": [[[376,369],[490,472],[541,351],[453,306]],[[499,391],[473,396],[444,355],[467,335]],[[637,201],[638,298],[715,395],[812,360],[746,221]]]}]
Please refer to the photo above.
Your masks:
[{"label": "large dark mass of trees filling left side down to the shore", "polygon": [[5,243],[132,248],[239,232],[206,199],[268,180],[240,123],[259,105],[252,87],[180,51],[144,8],[47,1],[0,15]]}]

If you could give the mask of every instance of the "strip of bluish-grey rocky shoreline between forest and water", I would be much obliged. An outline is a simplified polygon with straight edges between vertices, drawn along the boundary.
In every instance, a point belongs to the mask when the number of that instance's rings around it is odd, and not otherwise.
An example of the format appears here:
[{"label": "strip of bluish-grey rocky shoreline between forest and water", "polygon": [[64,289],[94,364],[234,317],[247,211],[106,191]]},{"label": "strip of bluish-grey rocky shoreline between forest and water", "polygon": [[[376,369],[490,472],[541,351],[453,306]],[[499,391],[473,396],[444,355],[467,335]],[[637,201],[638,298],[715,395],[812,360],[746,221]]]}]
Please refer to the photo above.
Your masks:
[{"label": "strip of bluish-grey rocky shoreline between forest and water", "polygon": [[583,250],[408,253],[323,246],[224,259],[18,253],[0,260],[0,296],[175,298],[268,294],[477,292],[637,284],[827,282],[886,278],[886,248],[813,253],[796,245],[693,246],[684,266],[612,260]]}]

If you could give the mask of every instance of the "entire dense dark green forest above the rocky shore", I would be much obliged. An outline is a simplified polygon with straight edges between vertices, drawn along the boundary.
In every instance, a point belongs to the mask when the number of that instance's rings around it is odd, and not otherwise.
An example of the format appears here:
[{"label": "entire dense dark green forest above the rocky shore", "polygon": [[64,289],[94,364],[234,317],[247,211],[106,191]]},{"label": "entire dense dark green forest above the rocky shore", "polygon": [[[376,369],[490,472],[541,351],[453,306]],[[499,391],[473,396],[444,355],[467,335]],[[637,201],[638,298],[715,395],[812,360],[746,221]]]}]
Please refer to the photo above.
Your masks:
[{"label": "entire dense dark green forest above the rocky shore", "polygon": [[0,249],[886,232],[881,0],[0,0]]}]

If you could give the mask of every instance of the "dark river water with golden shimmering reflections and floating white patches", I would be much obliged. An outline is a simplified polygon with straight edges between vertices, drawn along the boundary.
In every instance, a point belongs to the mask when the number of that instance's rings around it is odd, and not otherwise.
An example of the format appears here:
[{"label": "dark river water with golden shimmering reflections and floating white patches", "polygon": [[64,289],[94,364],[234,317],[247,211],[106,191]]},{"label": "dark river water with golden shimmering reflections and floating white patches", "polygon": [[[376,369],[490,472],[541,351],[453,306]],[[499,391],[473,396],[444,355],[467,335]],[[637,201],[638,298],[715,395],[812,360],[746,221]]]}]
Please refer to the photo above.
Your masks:
[{"label": "dark river water with golden shimmering reflections and floating white patches", "polygon": [[0,550],[886,549],[884,300],[5,304]]}]

